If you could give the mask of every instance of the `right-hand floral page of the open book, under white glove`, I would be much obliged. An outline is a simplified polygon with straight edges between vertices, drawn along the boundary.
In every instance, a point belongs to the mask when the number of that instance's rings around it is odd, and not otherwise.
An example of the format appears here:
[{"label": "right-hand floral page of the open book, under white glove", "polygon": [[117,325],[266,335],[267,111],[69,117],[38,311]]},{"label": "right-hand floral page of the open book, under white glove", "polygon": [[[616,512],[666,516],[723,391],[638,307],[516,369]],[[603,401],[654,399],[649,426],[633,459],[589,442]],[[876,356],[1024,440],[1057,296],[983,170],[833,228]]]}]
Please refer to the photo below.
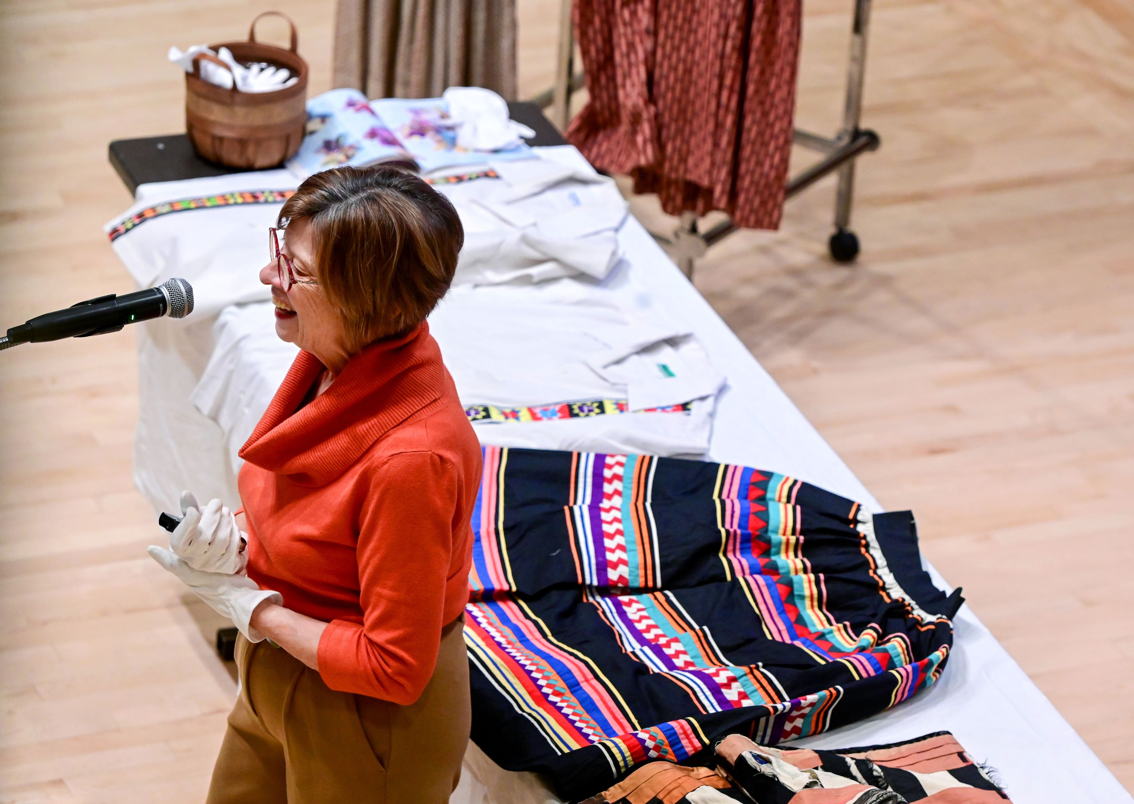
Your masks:
[{"label": "right-hand floral page of the open book, under white glove", "polygon": [[371,101],[371,105],[421,166],[422,172],[534,155],[527,145],[502,151],[469,151],[457,145],[457,125],[449,117],[449,105],[443,98],[387,98]]}]

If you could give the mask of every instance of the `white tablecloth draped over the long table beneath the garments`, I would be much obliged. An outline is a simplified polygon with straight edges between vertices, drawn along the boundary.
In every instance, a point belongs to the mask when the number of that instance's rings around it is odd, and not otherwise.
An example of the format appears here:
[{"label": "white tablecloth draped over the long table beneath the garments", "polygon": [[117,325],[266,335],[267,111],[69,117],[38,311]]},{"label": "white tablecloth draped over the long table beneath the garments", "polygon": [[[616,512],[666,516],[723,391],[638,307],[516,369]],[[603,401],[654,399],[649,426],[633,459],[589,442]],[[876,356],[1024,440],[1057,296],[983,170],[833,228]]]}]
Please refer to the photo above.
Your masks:
[{"label": "white tablecloth draped over the long table beneath the garments", "polygon": [[[539,150],[548,159],[589,169],[573,147]],[[870,492],[645,229],[629,219],[619,240],[626,264],[609,282],[610,293],[692,331],[728,376],[718,399],[709,457],[775,469],[879,510]],[[231,467],[220,430],[188,401],[211,349],[210,335],[202,329],[208,322],[196,324],[197,330],[180,324],[177,332],[172,325],[177,322],[154,323],[141,345],[139,486],[158,507],[176,505],[176,497],[167,499],[169,489],[181,484],[193,486],[198,497],[232,499]],[[254,363],[254,355],[249,359]],[[936,570],[930,572],[940,587],[948,589]],[[845,747],[948,730],[975,760],[996,768],[1016,804],[1134,801],[967,606],[955,627],[956,644],[938,684],[892,710],[799,744]],[[533,775],[502,771],[475,746],[452,798],[454,804],[557,801]]]}]

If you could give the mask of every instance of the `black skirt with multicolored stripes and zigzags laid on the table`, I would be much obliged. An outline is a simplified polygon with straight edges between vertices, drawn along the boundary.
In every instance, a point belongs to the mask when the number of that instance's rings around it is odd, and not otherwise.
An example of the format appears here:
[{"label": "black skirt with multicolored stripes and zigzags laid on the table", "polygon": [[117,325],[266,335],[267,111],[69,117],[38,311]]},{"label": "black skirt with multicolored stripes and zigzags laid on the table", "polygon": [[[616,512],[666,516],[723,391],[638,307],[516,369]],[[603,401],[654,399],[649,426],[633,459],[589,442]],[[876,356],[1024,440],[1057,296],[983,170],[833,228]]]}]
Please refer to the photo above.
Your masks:
[{"label": "black skirt with multicolored stripes and zigzags laid on the table", "polygon": [[962,602],[908,511],[744,466],[485,448],[473,527],[473,739],[569,799],[906,700]]}]

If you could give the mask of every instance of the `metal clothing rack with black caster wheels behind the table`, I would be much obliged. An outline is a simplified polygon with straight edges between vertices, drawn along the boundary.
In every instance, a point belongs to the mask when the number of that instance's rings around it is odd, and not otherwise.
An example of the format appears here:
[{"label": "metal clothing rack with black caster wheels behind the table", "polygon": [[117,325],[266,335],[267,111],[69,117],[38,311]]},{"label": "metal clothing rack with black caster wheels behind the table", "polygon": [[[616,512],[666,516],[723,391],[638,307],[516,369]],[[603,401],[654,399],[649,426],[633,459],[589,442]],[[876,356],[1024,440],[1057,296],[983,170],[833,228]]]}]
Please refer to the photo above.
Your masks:
[{"label": "metal clothing rack with black caster wheels behind the table", "polygon": [[[556,57],[556,81],[552,88],[536,95],[533,102],[541,108],[551,107],[551,121],[560,130],[570,120],[572,94],[584,86],[584,76],[574,70],[575,34],[572,26],[573,0],[560,0],[559,43]],[[866,73],[866,32],[870,26],[871,0],[854,0],[854,19],[850,26],[850,59],[847,67],[846,102],[843,127],[833,137],[796,128],[793,142],[796,145],[818,151],[823,156],[793,176],[787,183],[785,200],[803,192],[824,176],[839,175],[838,192],[835,197],[835,232],[828,240],[831,259],[839,263],[854,262],[858,256],[858,237],[850,230],[850,210],[854,202],[855,160],[868,151],[875,151],[881,144],[878,134],[869,128],[860,128],[862,117],[862,90]],[[687,277],[693,276],[693,261],[703,256],[716,243],[737,230],[731,220],[723,220],[705,231],[697,227],[697,217],[684,212],[672,236],[654,235],[654,238],[676,252],[678,266]]]}]

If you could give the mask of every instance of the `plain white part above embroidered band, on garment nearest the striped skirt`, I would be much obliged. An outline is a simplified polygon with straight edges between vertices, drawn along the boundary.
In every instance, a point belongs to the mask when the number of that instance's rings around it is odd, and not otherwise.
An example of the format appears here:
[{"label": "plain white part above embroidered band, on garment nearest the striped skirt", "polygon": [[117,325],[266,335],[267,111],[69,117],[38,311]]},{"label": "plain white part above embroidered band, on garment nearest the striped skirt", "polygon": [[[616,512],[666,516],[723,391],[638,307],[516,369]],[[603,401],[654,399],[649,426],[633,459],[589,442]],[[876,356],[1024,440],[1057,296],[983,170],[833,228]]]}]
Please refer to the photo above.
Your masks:
[{"label": "plain white part above embroidered band, on garment nearest the striped skirt", "polygon": [[608,296],[570,279],[459,287],[430,315],[430,330],[465,405],[629,399],[637,411],[720,390],[725,378],[687,330],[644,319]]}]

